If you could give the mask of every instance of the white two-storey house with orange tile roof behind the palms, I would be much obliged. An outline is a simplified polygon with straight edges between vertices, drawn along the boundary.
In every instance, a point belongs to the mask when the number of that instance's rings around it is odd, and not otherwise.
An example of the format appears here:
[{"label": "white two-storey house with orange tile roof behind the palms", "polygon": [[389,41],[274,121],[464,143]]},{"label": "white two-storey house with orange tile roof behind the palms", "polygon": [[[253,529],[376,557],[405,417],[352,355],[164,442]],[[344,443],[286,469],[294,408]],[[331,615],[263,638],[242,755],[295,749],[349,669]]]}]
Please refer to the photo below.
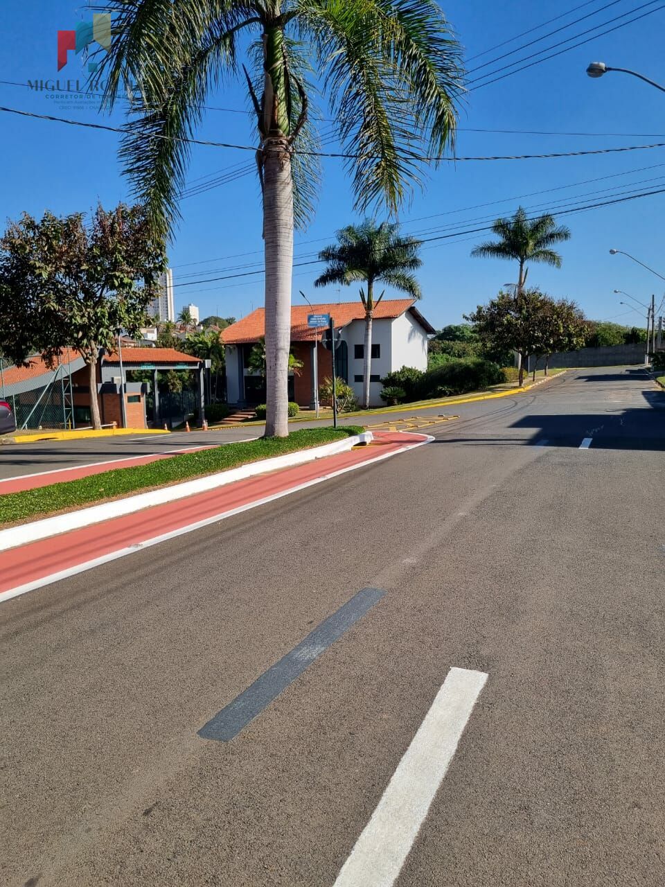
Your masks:
[{"label": "white two-storey house with orange tile roof behind the palms", "polygon": [[[427,336],[435,330],[414,304],[413,299],[382,299],[374,310],[370,386],[372,405],[382,405],[379,394],[383,386],[379,380],[387,373],[403,366],[413,366],[419,370],[427,368]],[[348,381],[360,400],[363,395],[364,359],[364,308],[361,302],[326,302],[292,307],[292,349],[293,355],[302,361],[302,369],[289,379],[289,399],[301,406],[313,404],[315,353],[319,384],[331,375],[331,352],[321,345],[323,330],[308,326],[309,314],[329,314],[335,327],[340,329],[335,361],[337,374]],[[222,331],[230,404],[265,403],[262,376],[247,368],[252,347],[265,334],[264,321],[264,310],[259,308]]]}]

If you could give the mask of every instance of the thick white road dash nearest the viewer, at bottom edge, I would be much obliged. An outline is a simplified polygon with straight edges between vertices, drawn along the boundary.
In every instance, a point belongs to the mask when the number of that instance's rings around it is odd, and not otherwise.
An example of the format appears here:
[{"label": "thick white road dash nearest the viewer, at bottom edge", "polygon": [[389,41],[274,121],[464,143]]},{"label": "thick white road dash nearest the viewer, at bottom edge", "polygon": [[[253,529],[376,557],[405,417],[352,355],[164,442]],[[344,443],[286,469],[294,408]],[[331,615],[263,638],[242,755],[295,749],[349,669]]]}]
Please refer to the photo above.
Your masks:
[{"label": "thick white road dash nearest the viewer, at bottom edge", "polygon": [[392,887],[448,770],[484,671],[451,668],[334,887]]}]

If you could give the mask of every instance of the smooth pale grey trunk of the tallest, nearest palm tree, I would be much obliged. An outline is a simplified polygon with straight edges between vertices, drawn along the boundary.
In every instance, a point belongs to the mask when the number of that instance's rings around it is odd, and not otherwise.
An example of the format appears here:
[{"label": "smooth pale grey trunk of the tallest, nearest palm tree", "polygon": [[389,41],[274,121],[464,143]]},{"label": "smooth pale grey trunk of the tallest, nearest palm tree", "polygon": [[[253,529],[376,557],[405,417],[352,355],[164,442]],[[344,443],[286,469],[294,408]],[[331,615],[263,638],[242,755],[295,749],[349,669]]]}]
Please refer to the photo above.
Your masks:
[{"label": "smooth pale grey trunk of the tallest, nearest palm tree", "polygon": [[293,180],[286,138],[268,138],[263,158],[265,436],[286,437],[293,268]]}]

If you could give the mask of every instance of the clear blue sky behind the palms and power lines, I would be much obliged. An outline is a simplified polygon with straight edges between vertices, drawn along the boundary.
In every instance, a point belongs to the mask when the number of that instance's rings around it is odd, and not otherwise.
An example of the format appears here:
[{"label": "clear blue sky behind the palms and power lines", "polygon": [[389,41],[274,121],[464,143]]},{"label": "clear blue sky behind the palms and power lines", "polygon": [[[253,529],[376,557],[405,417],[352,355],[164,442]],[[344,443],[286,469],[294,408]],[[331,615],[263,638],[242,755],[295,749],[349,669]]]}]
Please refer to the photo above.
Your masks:
[{"label": "clear blue sky behind the palms and power lines", "polygon": [[[27,80],[55,79],[58,76],[56,32],[74,28],[78,20],[88,18],[86,6],[72,0],[49,0],[48,4],[44,0],[5,0],[4,33],[10,39],[5,39],[0,48],[0,80],[26,83]],[[581,6],[583,8],[578,8]],[[645,0],[614,0],[614,3],[591,0],[586,4],[581,0],[552,0],[547,4],[527,0],[505,0],[501,4],[494,0],[474,0],[473,3],[450,0],[442,4],[465,46],[467,68],[471,72],[469,81],[536,51],[549,54],[544,49],[553,43],[598,27],[623,13],[637,11],[638,7],[639,11],[633,16],[599,30],[657,10],[614,33],[593,36],[591,42],[583,46],[498,82],[481,87],[483,81],[478,80],[466,97],[460,115],[458,155],[575,152],[665,142],[665,94],[628,75],[614,73],[591,80],[584,73],[589,61],[599,59],[665,82],[662,55],[665,8],[662,6],[660,2],[645,5]],[[574,8],[576,12],[546,27],[473,58]],[[588,13],[597,14],[517,51],[521,45]],[[591,34],[579,40],[586,36]],[[473,73],[473,68],[504,53],[510,54]],[[79,58],[70,59],[60,72],[61,81],[65,75],[84,79]],[[101,119],[92,104],[63,106],[51,93],[35,93],[25,87],[0,84],[0,97],[2,106],[37,114],[54,114],[82,122],[115,125],[122,122],[120,114],[110,121]],[[246,107],[246,96],[239,85],[231,86],[211,95],[207,105],[241,111]],[[121,176],[116,158],[114,133],[4,113],[0,114],[0,126],[3,221],[19,216],[22,211],[37,216],[45,209],[66,214],[88,210],[98,200],[105,206],[129,200],[129,184]],[[496,130],[580,135],[531,135]],[[245,114],[217,110],[207,112],[197,135],[245,145],[253,144],[254,137],[252,124]],[[236,169],[242,171],[251,161],[250,153],[196,145],[189,179],[193,184],[205,184],[206,177],[218,170],[219,175],[230,168],[231,173]],[[623,173],[626,175],[618,175]],[[590,182],[591,179],[600,180]],[[584,182],[587,184],[576,184]],[[405,232],[431,237],[442,233],[444,225],[451,226],[447,232],[480,227],[491,217],[510,215],[520,202],[528,209],[554,211],[557,207],[613,199],[620,196],[619,192],[627,194],[662,187],[665,187],[663,148],[548,160],[449,163],[430,171],[425,191],[414,194],[411,205],[403,209],[400,221]],[[559,190],[534,194],[548,189]],[[528,194],[533,196],[519,199],[520,195]],[[560,249],[563,267],[555,270],[534,265],[529,271],[529,281],[554,296],[575,299],[588,317],[642,323],[642,310],[624,313],[627,309],[619,304],[622,297],[613,294],[614,288],[633,294],[642,302],[654,292],[658,304],[665,284],[625,256],[609,255],[609,248],[625,250],[665,275],[664,198],[665,194],[657,194],[560,216],[559,221],[565,222],[572,232],[570,242]],[[254,174],[184,200],[182,213],[169,248],[176,283],[176,307],[194,302],[200,306],[202,316],[219,313],[241,317],[262,305],[260,274],[203,282],[207,278],[246,273],[259,267],[261,205]],[[296,236],[295,262],[316,257],[316,251],[332,241],[338,228],[357,218],[340,161],[325,160],[317,214],[308,231]],[[424,245],[424,263],[419,272],[424,297],[419,307],[434,326],[458,322],[466,311],[486,302],[504,283],[515,279],[511,263],[469,256],[473,245],[486,236],[462,234]],[[355,287],[342,287],[339,293],[336,287],[315,291],[313,281],[318,267],[305,265],[294,269],[294,302],[301,301],[298,294],[301,289],[311,301],[337,301],[338,298],[346,301],[356,297]]]}]

